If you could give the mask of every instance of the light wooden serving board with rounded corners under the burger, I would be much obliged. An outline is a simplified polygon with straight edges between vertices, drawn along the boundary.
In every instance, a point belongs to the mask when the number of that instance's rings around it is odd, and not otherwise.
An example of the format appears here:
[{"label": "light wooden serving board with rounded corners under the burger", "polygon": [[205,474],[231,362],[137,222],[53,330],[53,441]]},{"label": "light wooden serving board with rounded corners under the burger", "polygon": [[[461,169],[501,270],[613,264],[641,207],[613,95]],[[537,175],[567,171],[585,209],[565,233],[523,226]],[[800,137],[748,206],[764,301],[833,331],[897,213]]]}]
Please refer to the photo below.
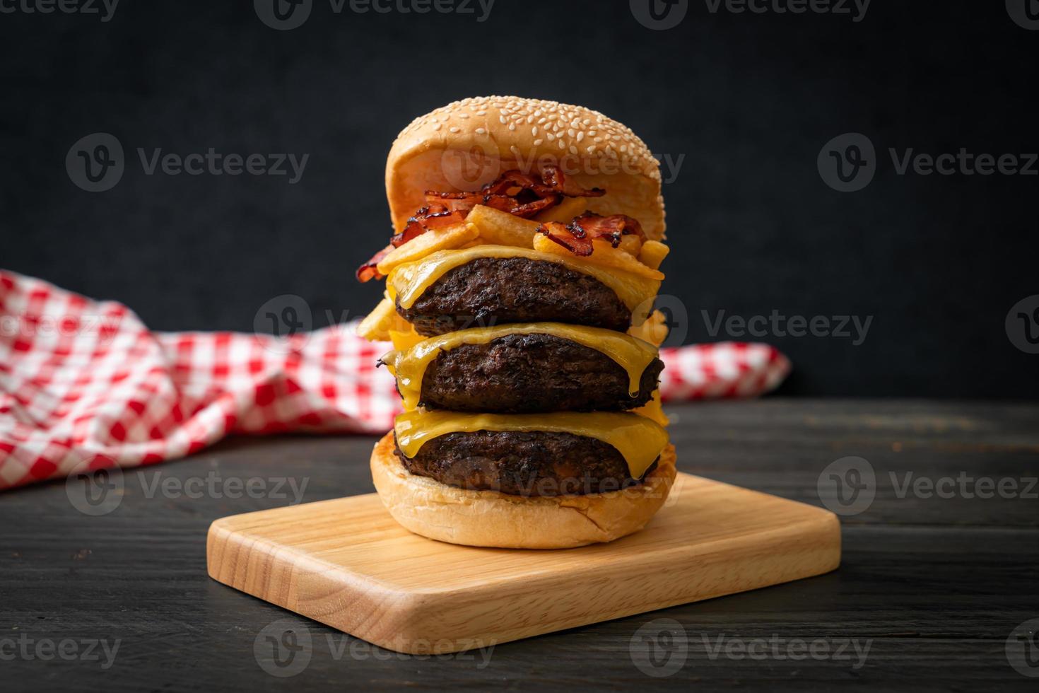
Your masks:
[{"label": "light wooden serving board with rounded corners under the burger", "polygon": [[209,575],[389,649],[453,652],[834,569],[821,508],[678,474],[641,532],[557,551],[478,549],[400,527],[374,494],[217,519]]}]

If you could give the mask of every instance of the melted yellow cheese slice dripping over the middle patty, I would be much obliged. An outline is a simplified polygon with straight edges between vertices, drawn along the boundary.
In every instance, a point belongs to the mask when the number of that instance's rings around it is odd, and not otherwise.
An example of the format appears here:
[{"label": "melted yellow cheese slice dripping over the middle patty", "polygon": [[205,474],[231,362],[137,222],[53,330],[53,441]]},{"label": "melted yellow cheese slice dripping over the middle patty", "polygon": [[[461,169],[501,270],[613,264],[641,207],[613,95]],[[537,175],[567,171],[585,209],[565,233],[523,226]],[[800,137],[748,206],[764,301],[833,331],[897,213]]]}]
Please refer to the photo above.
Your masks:
[{"label": "melted yellow cheese slice dripping over the middle patty", "polygon": [[632,397],[639,394],[642,372],[657,357],[657,347],[623,332],[556,322],[530,322],[473,327],[431,337],[406,351],[391,351],[382,356],[381,362],[397,376],[397,388],[404,398],[404,408],[411,410],[419,404],[426,367],[437,354],[463,344],[486,344],[507,335],[551,335],[601,351],[628,372],[628,391]]}]

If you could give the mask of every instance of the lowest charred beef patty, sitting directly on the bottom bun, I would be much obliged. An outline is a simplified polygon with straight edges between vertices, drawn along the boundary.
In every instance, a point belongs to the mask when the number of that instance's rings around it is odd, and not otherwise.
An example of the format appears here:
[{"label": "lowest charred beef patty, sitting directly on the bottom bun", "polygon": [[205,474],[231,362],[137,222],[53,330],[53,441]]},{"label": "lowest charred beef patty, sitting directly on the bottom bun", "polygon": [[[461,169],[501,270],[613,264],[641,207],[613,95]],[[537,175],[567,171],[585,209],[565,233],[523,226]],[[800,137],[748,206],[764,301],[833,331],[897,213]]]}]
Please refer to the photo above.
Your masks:
[{"label": "lowest charred beef patty, sitting directly on the bottom bun", "polygon": [[[415,457],[395,454],[411,474],[473,490],[512,496],[564,496],[617,490],[639,483],[611,445],[572,433],[476,431],[425,443]],[[657,469],[654,462],[646,474]]]}]

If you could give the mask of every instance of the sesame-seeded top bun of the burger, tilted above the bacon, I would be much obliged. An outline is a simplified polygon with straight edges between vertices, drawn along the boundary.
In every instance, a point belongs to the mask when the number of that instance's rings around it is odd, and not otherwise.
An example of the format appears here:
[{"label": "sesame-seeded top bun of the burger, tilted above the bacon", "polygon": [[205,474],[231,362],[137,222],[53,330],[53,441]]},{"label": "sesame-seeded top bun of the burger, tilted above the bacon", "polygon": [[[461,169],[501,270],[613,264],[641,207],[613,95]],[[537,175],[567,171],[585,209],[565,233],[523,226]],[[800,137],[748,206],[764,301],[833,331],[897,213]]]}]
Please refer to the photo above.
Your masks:
[{"label": "sesame-seeded top bun of the burger, tilted above the bacon", "polygon": [[585,188],[588,208],[627,214],[646,237],[664,238],[660,162],[627,126],[597,111],[541,99],[476,97],[417,117],[387,161],[387,197],[399,233],[426,190],[478,190],[512,168],[558,166]]}]

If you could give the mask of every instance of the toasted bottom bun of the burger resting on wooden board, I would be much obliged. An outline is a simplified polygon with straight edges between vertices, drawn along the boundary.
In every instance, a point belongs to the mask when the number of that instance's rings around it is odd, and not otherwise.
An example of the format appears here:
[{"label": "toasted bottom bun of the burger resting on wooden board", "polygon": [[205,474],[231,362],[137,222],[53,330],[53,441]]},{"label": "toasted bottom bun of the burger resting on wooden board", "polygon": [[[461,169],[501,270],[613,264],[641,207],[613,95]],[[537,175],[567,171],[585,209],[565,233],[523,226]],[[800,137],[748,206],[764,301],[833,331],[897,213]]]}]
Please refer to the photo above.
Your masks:
[{"label": "toasted bottom bun of the burger resting on wooden board", "polygon": [[521,497],[448,486],[409,473],[394,454],[393,431],[372,451],[372,480],[405,529],[469,547],[570,549],[642,529],[674,483],[674,446],[641,484],[606,494]]}]

